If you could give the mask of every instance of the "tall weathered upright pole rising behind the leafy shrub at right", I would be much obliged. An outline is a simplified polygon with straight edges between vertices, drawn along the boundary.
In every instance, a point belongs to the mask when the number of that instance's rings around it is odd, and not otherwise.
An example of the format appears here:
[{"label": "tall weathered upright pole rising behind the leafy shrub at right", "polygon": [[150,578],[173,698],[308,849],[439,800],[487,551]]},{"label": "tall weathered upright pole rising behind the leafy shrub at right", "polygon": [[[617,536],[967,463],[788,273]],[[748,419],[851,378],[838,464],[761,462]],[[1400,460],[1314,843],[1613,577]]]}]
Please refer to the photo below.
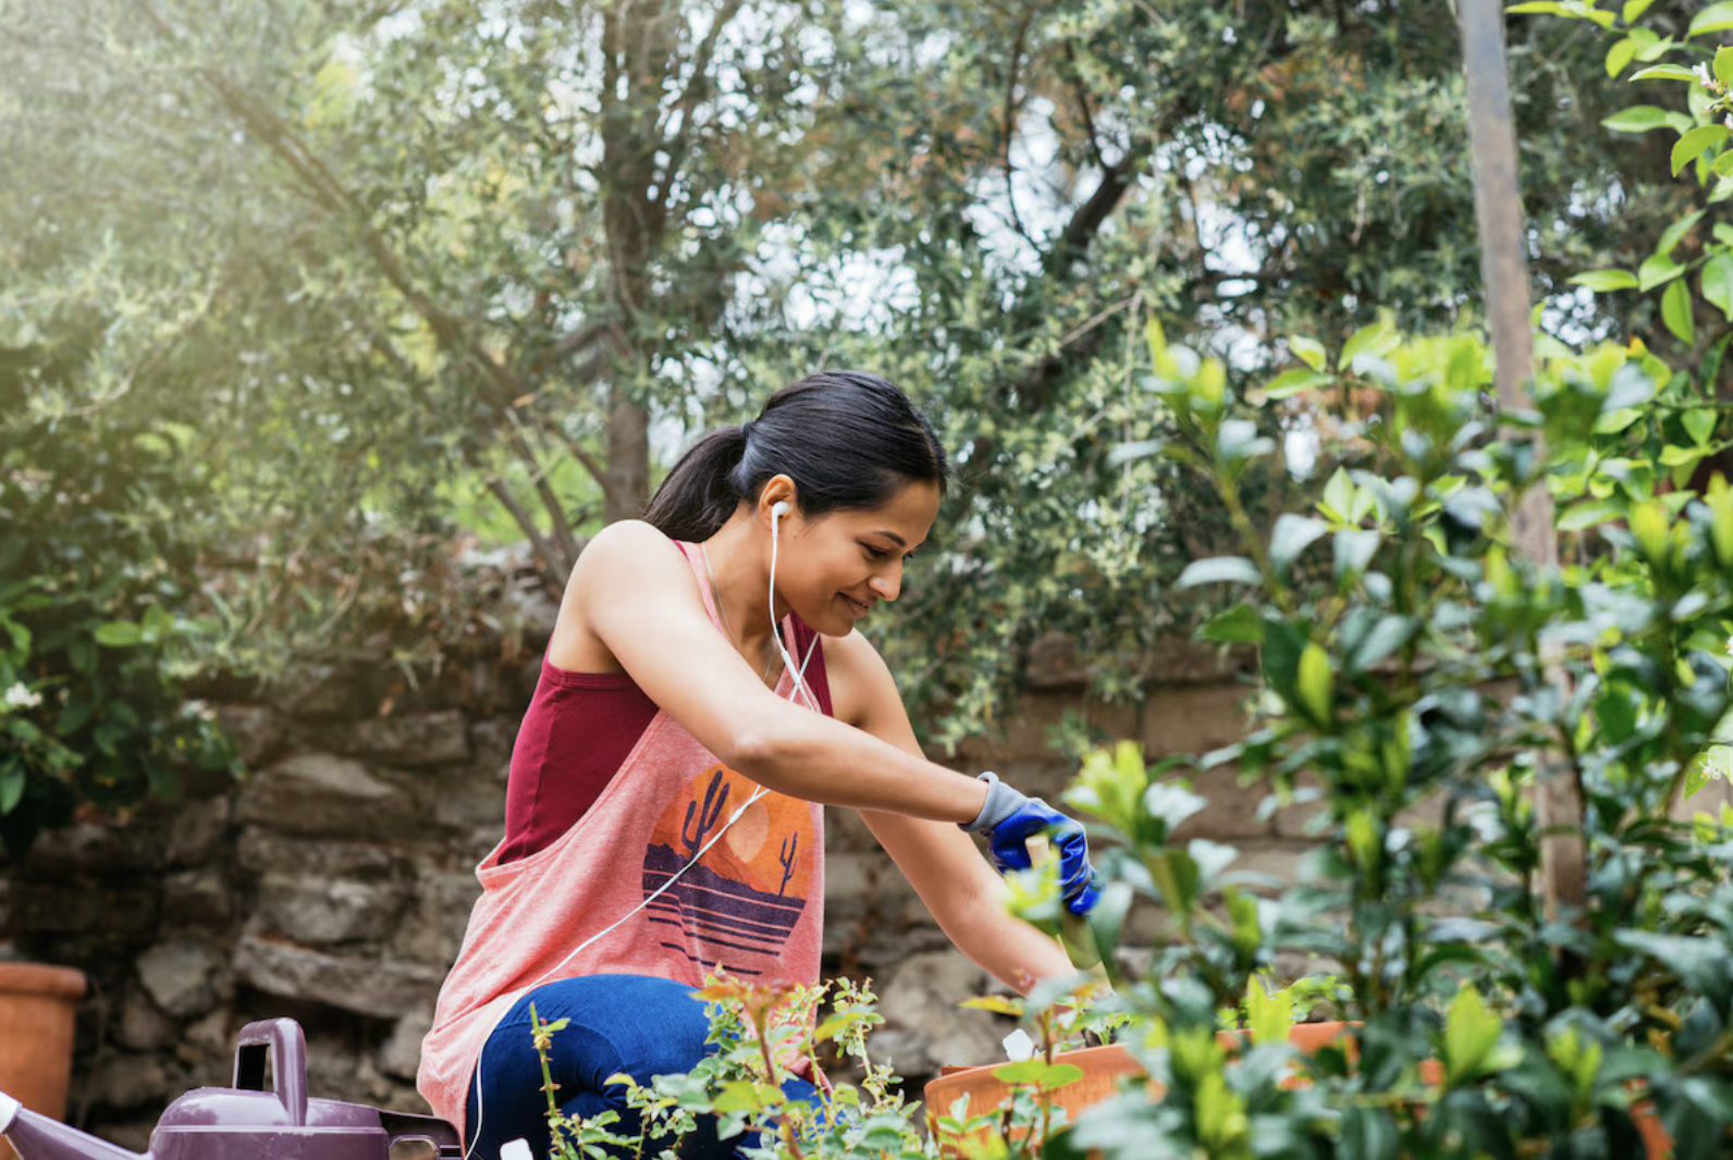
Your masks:
[{"label": "tall weathered upright pole rising behind the leafy shrub at right", "polygon": [[[1463,68],[1468,76],[1468,135],[1475,159],[1475,220],[1480,227],[1480,274],[1487,284],[1487,322],[1499,410],[1529,409],[1527,381],[1534,372],[1529,329],[1529,270],[1523,261],[1522,190],[1516,184],[1516,132],[1509,80],[1504,68],[1504,7],[1501,0],[1459,0]],[[1535,462],[1546,447],[1539,431]],[[1511,511],[1511,538],[1518,557],[1537,566],[1558,564],[1553,535],[1553,497],[1544,485],[1530,487]],[[1556,658],[1542,656],[1548,680],[1568,698],[1568,679]],[[1587,857],[1582,843],[1582,788],[1567,770],[1539,770],[1537,821],[1541,822],[1541,880],[1549,914],[1580,907],[1587,897]]]}]

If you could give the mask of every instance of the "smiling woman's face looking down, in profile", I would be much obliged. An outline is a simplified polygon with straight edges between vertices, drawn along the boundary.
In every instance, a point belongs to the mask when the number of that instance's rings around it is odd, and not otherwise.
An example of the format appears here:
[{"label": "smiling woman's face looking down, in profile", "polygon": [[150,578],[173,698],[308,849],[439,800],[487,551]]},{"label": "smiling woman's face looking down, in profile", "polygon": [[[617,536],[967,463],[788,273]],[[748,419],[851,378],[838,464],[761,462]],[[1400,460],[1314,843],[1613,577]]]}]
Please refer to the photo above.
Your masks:
[{"label": "smiling woman's face looking down, in profile", "polygon": [[879,507],[782,519],[776,596],[827,637],[846,637],[903,590],[903,564],[939,514],[936,483],[905,483]]}]

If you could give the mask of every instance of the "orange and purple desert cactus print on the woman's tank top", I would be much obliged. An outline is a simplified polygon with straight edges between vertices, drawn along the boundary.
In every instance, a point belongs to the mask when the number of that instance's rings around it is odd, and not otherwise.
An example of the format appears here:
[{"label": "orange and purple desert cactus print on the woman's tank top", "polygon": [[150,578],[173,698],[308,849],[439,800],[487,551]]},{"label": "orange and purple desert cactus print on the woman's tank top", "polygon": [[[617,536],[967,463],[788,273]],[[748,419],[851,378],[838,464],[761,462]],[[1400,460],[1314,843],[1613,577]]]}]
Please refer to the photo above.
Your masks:
[{"label": "orange and purple desert cactus print on the woman's tank top", "polygon": [[705,769],[662,812],[643,864],[660,945],[745,976],[769,970],[801,921],[816,845],[811,807],[780,793],[730,824],[756,789],[726,765]]}]

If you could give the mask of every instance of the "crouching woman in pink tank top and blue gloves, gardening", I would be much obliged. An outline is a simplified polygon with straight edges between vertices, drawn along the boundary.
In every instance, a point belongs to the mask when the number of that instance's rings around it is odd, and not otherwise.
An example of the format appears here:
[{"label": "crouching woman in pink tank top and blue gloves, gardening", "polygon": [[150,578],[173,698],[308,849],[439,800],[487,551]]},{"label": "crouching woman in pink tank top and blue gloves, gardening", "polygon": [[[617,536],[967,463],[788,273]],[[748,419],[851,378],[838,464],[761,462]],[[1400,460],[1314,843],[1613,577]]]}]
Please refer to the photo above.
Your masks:
[{"label": "crouching woman in pink tank top and blue gloves, gardening", "polygon": [[[920,757],[854,628],[894,601],[946,462],[884,379],[821,372],[702,438],[643,521],[584,549],[518,732],[506,836],[423,1044],[421,1092],[494,1160],[546,1155],[529,1008],[568,1115],[620,1108],[705,1053],[707,971],[816,982],[823,805],[854,807],[946,935],[1028,990],[1071,964],[1010,918],[1000,867],[1054,831],[1068,905],[1095,899],[1081,828],[993,774]],[[790,1084],[794,1098],[811,1086]],[[728,1146],[709,1143],[707,1155]]]}]

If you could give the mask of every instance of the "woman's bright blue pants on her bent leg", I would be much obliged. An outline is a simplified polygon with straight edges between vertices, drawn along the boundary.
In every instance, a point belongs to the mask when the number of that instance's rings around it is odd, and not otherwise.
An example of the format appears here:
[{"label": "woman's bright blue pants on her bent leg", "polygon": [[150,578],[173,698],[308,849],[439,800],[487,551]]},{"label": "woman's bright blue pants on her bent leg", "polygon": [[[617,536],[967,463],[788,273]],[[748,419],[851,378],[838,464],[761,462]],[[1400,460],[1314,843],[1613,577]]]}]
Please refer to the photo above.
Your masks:
[{"label": "woman's bright blue pants on her bent leg", "polygon": [[[548,1157],[548,1094],[541,1089],[541,1060],[530,1037],[532,1002],[542,1021],[570,1020],[553,1034],[548,1053],[560,1112],[582,1118],[619,1112],[612,1129],[619,1136],[638,1136],[638,1112],[626,1106],[626,1086],[608,1086],[605,1079],[624,1072],[648,1086],[657,1075],[690,1072],[716,1049],[704,1042],[711,1030],[704,1001],[693,999],[686,983],[650,975],[586,975],[544,983],[506,1011],[482,1047],[464,1113],[470,1160],[499,1160],[499,1148],[513,1139],[529,1141],[535,1160]],[[783,1080],[782,1089],[790,1099],[818,1103],[818,1091],[806,1080]],[[716,1120],[700,1117],[681,1157],[730,1160],[737,1148],[754,1143],[752,1134],[719,1141]]]}]

